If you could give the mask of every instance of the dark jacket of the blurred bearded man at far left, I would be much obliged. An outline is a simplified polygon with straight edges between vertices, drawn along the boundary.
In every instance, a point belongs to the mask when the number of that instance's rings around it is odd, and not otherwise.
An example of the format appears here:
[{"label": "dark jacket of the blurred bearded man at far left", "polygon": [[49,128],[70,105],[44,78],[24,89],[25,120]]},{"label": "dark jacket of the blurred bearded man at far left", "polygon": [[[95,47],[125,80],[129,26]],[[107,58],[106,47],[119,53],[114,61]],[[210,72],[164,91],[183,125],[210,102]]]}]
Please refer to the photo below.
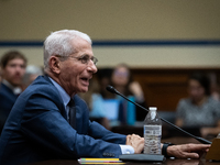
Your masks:
[{"label": "dark jacket of the blurred bearded man at far left", "polygon": [[0,134],[18,96],[1,82],[0,85]]}]

